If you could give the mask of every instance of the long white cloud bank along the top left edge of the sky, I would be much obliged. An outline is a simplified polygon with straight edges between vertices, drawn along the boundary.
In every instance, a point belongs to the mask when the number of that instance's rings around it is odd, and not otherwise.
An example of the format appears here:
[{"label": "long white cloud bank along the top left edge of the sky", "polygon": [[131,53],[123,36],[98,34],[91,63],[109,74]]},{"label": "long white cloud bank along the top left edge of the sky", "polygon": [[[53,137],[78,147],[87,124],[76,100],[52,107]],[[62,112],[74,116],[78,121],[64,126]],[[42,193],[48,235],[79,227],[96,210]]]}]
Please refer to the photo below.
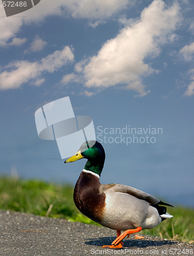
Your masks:
[{"label": "long white cloud bank along the top left edge of the sky", "polygon": [[40,23],[46,16],[71,15],[75,18],[87,18],[98,25],[133,2],[134,0],[41,0],[38,5],[25,11],[25,15],[22,12],[10,17],[6,17],[4,7],[0,5],[0,47],[5,47],[22,25]]}]

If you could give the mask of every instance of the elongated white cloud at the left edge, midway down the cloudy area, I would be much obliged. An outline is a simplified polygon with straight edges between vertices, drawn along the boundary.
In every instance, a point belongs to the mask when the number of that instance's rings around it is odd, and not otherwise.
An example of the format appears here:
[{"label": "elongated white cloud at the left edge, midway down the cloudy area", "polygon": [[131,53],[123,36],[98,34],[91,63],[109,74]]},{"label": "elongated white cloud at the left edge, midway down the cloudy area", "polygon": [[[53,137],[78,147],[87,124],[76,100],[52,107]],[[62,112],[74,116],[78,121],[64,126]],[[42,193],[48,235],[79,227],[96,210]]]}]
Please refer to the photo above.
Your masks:
[{"label": "elongated white cloud at the left edge, midway down the cloudy area", "polygon": [[4,72],[0,73],[0,90],[16,89],[23,83],[36,79],[35,85],[43,82],[39,76],[42,73],[53,73],[62,66],[74,60],[74,53],[65,46],[61,51],[55,51],[53,54],[42,58],[39,62],[15,61],[10,63]]}]

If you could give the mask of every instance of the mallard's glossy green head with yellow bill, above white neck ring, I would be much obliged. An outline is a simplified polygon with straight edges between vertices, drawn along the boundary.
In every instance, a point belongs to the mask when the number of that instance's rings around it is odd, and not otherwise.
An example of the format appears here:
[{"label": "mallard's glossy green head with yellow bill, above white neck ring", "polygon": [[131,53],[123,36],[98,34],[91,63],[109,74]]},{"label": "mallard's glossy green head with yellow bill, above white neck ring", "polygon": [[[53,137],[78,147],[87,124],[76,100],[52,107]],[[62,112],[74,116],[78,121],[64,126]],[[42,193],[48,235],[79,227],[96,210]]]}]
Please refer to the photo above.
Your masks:
[{"label": "mallard's glossy green head with yellow bill, above white neck ring", "polygon": [[85,170],[101,175],[105,161],[105,151],[100,142],[93,140],[84,142],[76,155],[68,158],[65,163],[75,162],[82,158],[88,159],[84,167]]}]

